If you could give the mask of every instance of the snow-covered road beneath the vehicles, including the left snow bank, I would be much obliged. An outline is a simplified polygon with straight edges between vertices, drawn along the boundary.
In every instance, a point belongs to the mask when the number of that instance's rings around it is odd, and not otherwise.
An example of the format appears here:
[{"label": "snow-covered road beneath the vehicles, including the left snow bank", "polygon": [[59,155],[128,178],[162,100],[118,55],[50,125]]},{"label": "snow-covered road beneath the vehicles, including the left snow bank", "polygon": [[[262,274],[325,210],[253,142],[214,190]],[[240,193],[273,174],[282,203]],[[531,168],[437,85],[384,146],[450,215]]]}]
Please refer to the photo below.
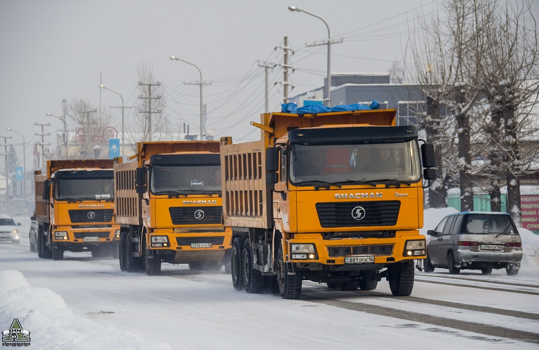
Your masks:
[{"label": "snow-covered road beneath the vehicles, including the left snow bank", "polygon": [[283,300],[237,292],[223,271],[129,274],[89,253],[42,260],[23,235],[0,243],[0,328],[18,318],[39,349],[539,348],[538,270],[416,271],[412,296],[399,298],[385,280],[367,292],[304,282],[300,300]]}]

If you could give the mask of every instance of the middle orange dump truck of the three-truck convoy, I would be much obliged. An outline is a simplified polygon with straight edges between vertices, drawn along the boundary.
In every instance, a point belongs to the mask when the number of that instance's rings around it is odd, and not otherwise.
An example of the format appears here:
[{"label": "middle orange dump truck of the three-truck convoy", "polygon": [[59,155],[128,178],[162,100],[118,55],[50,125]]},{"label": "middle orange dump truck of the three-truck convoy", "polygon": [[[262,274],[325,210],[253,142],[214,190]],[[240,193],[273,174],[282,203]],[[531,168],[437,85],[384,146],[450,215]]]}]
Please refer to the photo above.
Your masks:
[{"label": "middle orange dump truck of the three-truck convoy", "polygon": [[120,269],[158,275],[167,262],[230,271],[219,141],[141,142],[129,159],[114,164]]}]

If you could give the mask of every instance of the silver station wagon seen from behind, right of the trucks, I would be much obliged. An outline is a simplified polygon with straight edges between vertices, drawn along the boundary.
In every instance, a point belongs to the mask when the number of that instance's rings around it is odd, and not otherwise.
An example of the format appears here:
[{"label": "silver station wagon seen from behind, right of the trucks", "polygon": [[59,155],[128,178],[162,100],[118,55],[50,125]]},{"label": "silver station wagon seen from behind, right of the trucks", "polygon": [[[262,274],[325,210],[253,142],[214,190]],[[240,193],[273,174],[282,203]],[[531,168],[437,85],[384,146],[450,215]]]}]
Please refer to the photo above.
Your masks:
[{"label": "silver station wagon seen from behind, right of the trucks", "polygon": [[507,275],[519,273],[522,241],[511,216],[499,212],[461,212],[447,215],[436,229],[427,231],[425,272],[434,268],[481,270],[506,269]]}]

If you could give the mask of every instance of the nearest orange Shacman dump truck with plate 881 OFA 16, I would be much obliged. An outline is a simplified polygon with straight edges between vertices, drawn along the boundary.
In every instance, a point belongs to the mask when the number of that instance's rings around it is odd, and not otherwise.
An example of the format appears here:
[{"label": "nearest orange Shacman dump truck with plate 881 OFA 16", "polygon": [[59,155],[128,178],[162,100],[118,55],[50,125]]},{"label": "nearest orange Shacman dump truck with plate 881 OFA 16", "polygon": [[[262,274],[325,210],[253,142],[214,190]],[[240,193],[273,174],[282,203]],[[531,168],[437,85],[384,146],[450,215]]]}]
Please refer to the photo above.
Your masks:
[{"label": "nearest orange Shacman dump truck with plate 881 OFA 16", "polygon": [[[232,283],[297,299],[302,281],[410,295],[425,257],[423,179],[433,148],[395,126],[395,109],[267,113],[260,141],[221,144]],[[421,172],[421,157],[427,169]]]}]

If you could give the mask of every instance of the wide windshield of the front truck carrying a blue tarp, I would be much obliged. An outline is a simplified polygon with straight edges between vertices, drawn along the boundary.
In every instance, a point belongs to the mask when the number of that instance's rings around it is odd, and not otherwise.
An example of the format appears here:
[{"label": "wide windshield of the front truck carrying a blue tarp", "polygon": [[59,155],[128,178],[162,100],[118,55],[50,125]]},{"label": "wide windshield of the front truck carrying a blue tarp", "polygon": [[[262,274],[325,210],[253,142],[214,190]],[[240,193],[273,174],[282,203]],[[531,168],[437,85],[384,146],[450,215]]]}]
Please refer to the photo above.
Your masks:
[{"label": "wide windshield of the front truck carrying a blue tarp", "polygon": [[397,183],[421,179],[417,142],[291,144],[289,179],[296,186],[316,181],[337,185]]}]

